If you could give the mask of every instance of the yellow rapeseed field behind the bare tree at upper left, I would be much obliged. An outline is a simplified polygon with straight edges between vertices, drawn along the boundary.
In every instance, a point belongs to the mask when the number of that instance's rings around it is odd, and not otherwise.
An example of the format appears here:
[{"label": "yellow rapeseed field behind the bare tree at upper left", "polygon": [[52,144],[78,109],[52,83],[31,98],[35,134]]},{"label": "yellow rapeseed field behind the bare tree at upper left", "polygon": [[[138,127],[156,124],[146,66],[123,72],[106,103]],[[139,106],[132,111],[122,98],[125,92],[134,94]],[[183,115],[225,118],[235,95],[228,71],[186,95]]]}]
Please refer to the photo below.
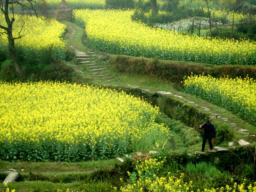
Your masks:
[{"label": "yellow rapeseed field behind the bare tree at upper left", "polygon": [[[21,30],[21,26],[24,26]],[[0,15],[0,24],[6,26],[4,16]],[[23,52],[30,54],[38,52],[38,55],[42,54],[41,51],[51,50],[55,51],[55,57],[63,56],[65,51],[65,41],[62,38],[64,35],[66,26],[55,19],[46,19],[44,17],[36,18],[36,16],[23,16],[15,15],[15,21],[13,22],[13,36],[17,37],[21,30],[20,39],[15,40],[15,45]],[[0,29],[3,32],[3,29]],[[0,47],[6,47],[8,44],[7,35],[3,34]]]}]

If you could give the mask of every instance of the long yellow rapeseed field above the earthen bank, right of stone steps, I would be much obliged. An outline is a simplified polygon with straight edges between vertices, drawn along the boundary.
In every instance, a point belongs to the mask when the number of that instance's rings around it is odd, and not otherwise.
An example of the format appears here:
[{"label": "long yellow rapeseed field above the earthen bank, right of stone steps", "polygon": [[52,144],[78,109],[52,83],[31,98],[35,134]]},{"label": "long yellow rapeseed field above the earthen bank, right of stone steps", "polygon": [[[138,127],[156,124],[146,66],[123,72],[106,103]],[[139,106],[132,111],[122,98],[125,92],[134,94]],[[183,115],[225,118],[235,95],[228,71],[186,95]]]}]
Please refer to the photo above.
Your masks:
[{"label": "long yellow rapeseed field above the earthen bank, right of stone steps", "polygon": [[209,39],[150,28],[131,20],[132,11],[74,10],[85,23],[88,44],[110,53],[221,64],[256,63],[256,43]]}]

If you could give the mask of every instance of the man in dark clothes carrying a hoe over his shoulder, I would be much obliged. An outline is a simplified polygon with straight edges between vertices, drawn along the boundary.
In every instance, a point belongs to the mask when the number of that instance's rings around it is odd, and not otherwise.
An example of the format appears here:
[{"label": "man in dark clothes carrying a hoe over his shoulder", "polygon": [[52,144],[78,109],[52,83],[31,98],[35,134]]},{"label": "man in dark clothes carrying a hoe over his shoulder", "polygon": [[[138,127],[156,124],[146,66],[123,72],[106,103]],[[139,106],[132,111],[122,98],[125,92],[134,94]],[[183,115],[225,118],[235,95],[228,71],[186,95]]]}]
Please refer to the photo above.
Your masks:
[{"label": "man in dark clothes carrying a hoe over his shoulder", "polygon": [[210,122],[209,119],[207,119],[206,124],[200,125],[200,129],[204,128],[204,134],[203,134],[203,144],[202,144],[202,152],[204,152],[205,144],[208,139],[210,150],[213,149],[212,146],[212,138],[216,137],[216,131],[214,128],[214,125]]}]

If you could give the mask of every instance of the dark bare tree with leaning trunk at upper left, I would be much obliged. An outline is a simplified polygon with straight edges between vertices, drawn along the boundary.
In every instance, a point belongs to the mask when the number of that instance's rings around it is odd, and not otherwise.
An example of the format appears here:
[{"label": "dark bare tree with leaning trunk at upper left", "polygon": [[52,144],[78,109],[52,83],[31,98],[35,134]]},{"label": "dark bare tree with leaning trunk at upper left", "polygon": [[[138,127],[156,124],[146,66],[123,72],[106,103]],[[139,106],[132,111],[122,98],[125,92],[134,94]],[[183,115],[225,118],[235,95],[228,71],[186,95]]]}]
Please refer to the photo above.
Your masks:
[{"label": "dark bare tree with leaning trunk at upper left", "polygon": [[21,67],[18,64],[17,54],[15,50],[14,40],[22,37],[21,31],[25,25],[25,21],[19,26],[18,35],[13,36],[13,23],[15,21],[15,8],[19,7],[23,12],[33,12],[37,16],[36,12],[36,0],[0,0],[0,15],[4,15],[5,24],[0,24],[0,36],[6,34],[8,39],[8,50],[10,58],[13,61],[13,65],[16,69],[17,75],[21,77]]}]

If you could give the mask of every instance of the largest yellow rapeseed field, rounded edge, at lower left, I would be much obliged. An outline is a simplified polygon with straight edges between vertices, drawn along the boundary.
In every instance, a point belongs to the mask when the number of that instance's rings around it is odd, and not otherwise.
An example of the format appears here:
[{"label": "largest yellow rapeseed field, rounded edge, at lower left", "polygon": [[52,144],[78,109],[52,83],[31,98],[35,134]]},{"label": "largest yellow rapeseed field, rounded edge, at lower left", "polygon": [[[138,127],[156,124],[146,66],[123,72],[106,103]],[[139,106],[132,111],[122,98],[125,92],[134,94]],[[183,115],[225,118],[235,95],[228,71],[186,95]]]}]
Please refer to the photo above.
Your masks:
[{"label": "largest yellow rapeseed field, rounded edge, at lower left", "polygon": [[0,156],[7,160],[31,160],[33,150],[36,160],[105,159],[150,150],[170,136],[155,123],[158,108],[88,85],[0,82],[0,108]]}]

